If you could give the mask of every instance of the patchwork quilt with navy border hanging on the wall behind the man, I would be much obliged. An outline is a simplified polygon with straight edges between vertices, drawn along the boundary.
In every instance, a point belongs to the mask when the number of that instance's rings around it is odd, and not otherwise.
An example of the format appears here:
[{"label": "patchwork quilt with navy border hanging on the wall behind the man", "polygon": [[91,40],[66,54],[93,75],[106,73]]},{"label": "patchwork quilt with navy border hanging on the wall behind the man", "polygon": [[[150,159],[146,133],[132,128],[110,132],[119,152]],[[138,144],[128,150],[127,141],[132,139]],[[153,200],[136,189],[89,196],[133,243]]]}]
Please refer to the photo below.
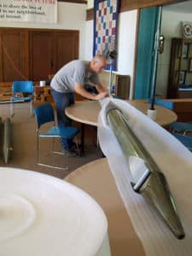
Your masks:
[{"label": "patchwork quilt with navy border hanging on the wall behind the man", "polygon": [[[106,55],[117,49],[119,0],[95,0],[94,2],[94,47],[93,55]],[[116,57],[112,69],[117,70]],[[110,69],[108,64],[106,69]]]}]

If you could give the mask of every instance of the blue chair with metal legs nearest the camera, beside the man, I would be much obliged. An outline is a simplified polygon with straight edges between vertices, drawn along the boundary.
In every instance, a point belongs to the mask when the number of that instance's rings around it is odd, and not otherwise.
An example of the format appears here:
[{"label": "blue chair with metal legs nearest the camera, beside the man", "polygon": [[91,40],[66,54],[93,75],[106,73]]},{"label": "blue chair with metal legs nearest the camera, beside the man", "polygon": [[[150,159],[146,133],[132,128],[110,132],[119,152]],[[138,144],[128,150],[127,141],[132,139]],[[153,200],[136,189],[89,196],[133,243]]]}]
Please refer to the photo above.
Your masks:
[{"label": "blue chair with metal legs nearest the camera, beside the man", "polygon": [[[52,108],[50,103],[44,103],[43,105],[34,108],[34,113],[37,121],[37,162],[39,166],[47,166],[52,167],[55,169],[67,170],[68,167],[59,167],[59,166],[51,166],[41,163],[40,161],[40,137],[47,137],[52,138],[52,152],[55,154],[63,154],[61,151],[55,151],[54,144],[55,144],[55,137],[64,137],[66,139],[73,139],[79,134],[79,129],[75,127],[63,127],[63,126],[56,126],[55,125],[55,113],[54,109]],[[49,131],[45,133],[40,132],[40,127],[46,123],[52,123],[53,125],[49,129]],[[76,142],[76,146],[79,149],[79,145]]]}]

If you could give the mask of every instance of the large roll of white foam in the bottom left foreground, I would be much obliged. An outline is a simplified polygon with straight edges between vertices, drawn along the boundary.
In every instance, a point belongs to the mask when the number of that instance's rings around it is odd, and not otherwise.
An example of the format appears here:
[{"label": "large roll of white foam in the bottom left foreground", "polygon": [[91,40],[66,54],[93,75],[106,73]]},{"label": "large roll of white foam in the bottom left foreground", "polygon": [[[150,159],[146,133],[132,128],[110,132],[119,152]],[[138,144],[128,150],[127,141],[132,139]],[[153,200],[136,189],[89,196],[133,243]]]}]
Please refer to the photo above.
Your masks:
[{"label": "large roll of white foam in the bottom left foreground", "polygon": [[0,167],[0,226],[3,256],[110,255],[102,208],[42,173]]}]

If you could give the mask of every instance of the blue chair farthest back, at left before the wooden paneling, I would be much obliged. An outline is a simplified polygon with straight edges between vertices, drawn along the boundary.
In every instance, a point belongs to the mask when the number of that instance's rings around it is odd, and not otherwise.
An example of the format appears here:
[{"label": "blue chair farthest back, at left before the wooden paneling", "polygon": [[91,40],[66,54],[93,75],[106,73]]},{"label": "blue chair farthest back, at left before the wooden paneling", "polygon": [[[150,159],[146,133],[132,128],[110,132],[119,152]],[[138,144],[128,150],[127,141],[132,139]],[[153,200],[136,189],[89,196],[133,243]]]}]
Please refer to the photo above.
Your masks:
[{"label": "blue chair farthest back, at left before the wooden paneling", "polygon": [[30,113],[32,115],[33,93],[34,87],[32,81],[14,81],[12,85],[12,96],[10,98],[11,117],[15,114],[15,102],[30,102]]}]

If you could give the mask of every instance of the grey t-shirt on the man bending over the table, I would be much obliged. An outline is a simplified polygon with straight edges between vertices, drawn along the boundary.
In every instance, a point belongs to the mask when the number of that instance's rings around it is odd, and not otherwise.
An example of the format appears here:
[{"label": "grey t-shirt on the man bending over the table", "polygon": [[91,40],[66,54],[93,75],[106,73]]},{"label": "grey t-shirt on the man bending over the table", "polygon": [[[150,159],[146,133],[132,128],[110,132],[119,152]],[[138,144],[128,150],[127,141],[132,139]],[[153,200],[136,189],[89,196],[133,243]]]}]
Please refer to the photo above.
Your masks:
[{"label": "grey t-shirt on the man bending over the table", "polygon": [[84,84],[91,82],[98,84],[97,73],[89,70],[89,61],[70,61],[55,73],[50,87],[59,92],[73,92],[74,83]]}]

